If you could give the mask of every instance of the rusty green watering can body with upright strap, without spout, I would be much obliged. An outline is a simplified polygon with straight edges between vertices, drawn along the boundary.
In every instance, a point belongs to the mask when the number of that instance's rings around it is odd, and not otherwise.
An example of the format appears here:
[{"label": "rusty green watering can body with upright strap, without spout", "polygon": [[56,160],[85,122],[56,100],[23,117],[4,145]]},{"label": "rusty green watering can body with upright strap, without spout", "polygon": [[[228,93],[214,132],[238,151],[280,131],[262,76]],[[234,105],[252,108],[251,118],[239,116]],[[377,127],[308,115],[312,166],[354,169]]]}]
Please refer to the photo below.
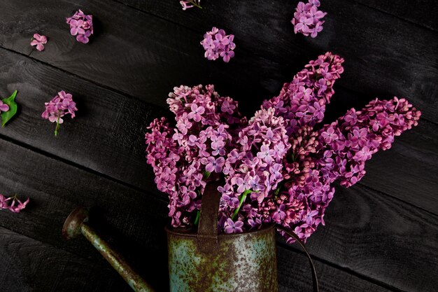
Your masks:
[{"label": "rusty green watering can body with upright strap, without spout", "polygon": [[218,235],[220,193],[206,186],[197,230],[167,228],[171,292],[277,292],[274,225]]}]

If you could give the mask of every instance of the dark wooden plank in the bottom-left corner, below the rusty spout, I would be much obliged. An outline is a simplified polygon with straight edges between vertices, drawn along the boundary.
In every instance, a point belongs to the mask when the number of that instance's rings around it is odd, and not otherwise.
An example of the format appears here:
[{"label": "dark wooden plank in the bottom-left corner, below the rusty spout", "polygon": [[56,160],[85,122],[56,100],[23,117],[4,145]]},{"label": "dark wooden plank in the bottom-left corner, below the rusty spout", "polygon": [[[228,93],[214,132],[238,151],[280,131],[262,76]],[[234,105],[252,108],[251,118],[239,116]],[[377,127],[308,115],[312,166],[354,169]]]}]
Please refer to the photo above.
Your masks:
[{"label": "dark wooden plank in the bottom-left corner, below the rusty spout", "polygon": [[0,291],[132,291],[115,270],[0,228]]}]

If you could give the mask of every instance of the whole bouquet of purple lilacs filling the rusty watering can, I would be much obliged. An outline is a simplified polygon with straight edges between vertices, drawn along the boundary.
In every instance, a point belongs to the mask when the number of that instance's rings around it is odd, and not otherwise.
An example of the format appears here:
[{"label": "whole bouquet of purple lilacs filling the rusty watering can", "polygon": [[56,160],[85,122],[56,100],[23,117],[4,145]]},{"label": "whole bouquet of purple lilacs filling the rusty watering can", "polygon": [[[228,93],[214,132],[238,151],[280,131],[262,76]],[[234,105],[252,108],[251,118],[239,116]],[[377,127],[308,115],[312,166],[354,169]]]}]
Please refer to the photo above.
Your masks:
[{"label": "whole bouquet of purple lilacs filling the rusty watering can", "polygon": [[220,230],[276,223],[305,242],[324,224],[332,183],[358,182],[372,154],[390,148],[421,116],[406,99],[376,99],[315,128],[343,62],[332,53],[320,55],[249,120],[213,85],[174,88],[167,103],[176,125],[155,119],[146,133],[148,164],[158,189],[169,195],[171,224],[197,225],[204,187],[220,178]]}]

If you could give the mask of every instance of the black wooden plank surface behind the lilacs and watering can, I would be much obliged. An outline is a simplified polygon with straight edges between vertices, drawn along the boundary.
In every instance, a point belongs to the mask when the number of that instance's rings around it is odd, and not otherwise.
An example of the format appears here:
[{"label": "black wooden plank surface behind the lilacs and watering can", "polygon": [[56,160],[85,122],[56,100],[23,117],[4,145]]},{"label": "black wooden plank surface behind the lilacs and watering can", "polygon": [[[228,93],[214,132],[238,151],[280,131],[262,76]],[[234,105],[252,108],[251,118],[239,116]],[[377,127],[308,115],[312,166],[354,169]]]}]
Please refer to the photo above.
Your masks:
[{"label": "black wooden plank surface behind the lilacs and watering can", "polygon": [[[327,121],[374,97],[407,97],[420,125],[374,155],[367,175],[337,188],[326,226],[309,239],[321,291],[437,291],[438,8],[435,0],[330,0],[323,32],[293,34],[297,1],[0,1],[0,96],[18,90],[20,112],[0,129],[0,193],[31,197],[0,211],[0,291],[130,291],[85,239],[60,230],[79,204],[150,281],[167,291],[167,197],[144,158],[144,133],[166,114],[175,85],[213,83],[251,116],[309,60],[331,50],[345,73]],[[64,18],[83,8],[95,35],[83,45]],[[236,57],[204,59],[202,35],[235,34]],[[40,53],[29,46],[49,38]],[[59,90],[78,103],[59,137],[41,118]],[[297,246],[278,242],[281,291],[311,291]]]}]

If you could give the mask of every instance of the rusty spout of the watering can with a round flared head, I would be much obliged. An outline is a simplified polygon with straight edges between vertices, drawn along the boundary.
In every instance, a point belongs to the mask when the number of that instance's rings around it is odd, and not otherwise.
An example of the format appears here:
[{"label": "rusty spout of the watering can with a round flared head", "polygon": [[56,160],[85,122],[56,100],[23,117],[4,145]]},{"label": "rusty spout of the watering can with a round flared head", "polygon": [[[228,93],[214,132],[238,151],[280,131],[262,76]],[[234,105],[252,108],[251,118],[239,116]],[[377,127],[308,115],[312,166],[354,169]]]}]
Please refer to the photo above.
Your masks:
[{"label": "rusty spout of the watering can with a round flared head", "polygon": [[78,207],[66,218],[64,226],[62,227],[62,236],[66,239],[71,239],[80,234],[84,235],[134,291],[155,292],[155,290],[132,269],[125,258],[114,251],[108,242],[102,239],[90,225],[87,225],[87,221],[88,210],[85,207]]}]

